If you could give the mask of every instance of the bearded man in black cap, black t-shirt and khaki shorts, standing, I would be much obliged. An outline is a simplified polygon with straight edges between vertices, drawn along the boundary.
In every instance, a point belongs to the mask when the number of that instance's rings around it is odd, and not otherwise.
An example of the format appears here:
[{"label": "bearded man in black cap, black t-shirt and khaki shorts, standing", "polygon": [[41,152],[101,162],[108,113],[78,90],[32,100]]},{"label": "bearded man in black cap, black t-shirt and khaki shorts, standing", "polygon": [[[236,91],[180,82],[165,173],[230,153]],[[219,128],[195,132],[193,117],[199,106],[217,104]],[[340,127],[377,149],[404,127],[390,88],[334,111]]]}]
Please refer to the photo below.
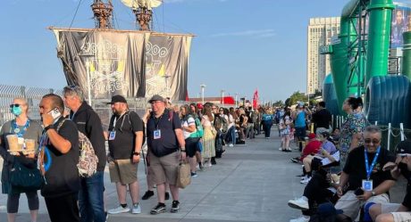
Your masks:
[{"label": "bearded man in black cap, black t-shirt and khaki shorts, standing", "polygon": [[129,212],[126,193],[129,185],[133,207],[131,213],[141,213],[138,204],[138,161],[144,140],[144,124],[138,114],[129,111],[126,99],[114,95],[111,104],[113,116],[108,127],[110,179],[115,183],[120,206],[108,210],[110,214]]}]

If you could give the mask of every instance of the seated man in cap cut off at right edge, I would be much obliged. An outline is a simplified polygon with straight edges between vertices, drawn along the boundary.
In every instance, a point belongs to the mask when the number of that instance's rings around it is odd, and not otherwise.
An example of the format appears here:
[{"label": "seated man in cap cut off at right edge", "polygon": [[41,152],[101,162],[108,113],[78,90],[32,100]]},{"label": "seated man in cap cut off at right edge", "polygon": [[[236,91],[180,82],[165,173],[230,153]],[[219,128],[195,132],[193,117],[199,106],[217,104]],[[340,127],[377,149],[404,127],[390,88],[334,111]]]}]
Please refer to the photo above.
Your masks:
[{"label": "seated man in cap cut off at right edge", "polygon": [[385,170],[390,170],[391,176],[407,179],[407,194],[402,203],[375,204],[369,214],[377,222],[406,222],[411,221],[411,140],[399,142],[395,162],[385,164]]}]

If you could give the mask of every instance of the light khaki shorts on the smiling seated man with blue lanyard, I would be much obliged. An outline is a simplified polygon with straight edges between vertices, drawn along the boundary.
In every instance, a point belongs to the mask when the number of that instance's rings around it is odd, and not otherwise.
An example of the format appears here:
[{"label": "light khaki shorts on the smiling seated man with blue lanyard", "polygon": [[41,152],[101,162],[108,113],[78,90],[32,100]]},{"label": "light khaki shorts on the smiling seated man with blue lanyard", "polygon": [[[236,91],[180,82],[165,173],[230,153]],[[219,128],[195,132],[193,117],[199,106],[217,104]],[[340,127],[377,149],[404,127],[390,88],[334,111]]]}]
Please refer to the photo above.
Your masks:
[{"label": "light khaki shorts on the smiling seated man with blue lanyard", "polygon": [[359,210],[361,206],[367,202],[388,203],[390,202],[390,198],[388,197],[387,193],[383,193],[380,195],[372,196],[370,199],[368,199],[368,201],[364,202],[358,201],[358,199],[356,199],[356,194],[354,194],[354,191],[348,191],[343,196],[341,196],[339,201],[337,201],[337,203],[335,204],[335,209],[343,210],[343,214],[354,221],[356,217],[359,216]]}]

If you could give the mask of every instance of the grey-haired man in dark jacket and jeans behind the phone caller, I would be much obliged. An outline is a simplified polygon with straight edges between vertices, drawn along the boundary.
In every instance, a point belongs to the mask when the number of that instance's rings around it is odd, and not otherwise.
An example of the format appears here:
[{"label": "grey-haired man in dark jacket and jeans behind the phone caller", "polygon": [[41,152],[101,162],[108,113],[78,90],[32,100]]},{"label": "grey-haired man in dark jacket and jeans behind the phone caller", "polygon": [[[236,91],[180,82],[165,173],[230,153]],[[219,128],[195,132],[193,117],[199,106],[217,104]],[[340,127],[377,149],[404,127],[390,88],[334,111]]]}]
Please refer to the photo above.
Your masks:
[{"label": "grey-haired man in dark jacket and jeans behind the phone caller", "polygon": [[[98,158],[96,173],[91,177],[80,177],[79,208],[82,222],[104,222],[104,175],[105,136],[101,120],[96,111],[84,101],[79,86],[65,86],[63,101],[71,111],[69,119],[76,123],[78,130],[88,137]],[[81,149],[81,147],[80,147]]]}]

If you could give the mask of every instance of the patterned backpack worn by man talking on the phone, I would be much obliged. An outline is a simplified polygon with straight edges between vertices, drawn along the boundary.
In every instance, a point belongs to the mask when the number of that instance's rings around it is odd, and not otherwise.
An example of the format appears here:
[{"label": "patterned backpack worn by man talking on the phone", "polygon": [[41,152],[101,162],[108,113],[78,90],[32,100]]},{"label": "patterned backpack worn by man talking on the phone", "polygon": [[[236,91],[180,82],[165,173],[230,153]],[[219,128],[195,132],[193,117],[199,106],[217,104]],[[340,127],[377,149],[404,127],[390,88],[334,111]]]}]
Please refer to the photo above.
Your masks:
[{"label": "patterned backpack worn by man talking on the phone", "polygon": [[[63,126],[65,120],[66,119],[63,119],[63,121],[59,124],[59,126],[57,127],[57,131],[60,129],[60,127]],[[79,130],[77,130],[77,132],[79,133],[80,151],[77,169],[79,169],[80,177],[91,177],[96,173],[98,157],[96,156],[93,144],[91,144],[88,137],[81,133]]]}]

